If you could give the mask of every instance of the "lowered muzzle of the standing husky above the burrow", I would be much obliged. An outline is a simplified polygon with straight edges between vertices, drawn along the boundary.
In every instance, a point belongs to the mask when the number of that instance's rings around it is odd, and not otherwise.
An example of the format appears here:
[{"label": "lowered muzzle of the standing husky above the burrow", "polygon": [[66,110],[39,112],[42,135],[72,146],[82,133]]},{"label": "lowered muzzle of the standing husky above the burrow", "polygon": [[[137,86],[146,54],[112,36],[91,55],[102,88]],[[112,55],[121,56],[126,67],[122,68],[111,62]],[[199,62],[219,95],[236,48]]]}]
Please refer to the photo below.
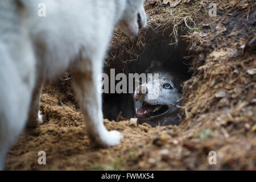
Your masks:
[{"label": "lowered muzzle of the standing husky above the burrow", "polygon": [[143,2],[144,0],[127,0],[126,9],[118,23],[126,35],[135,36],[139,29],[146,26],[147,18]]}]

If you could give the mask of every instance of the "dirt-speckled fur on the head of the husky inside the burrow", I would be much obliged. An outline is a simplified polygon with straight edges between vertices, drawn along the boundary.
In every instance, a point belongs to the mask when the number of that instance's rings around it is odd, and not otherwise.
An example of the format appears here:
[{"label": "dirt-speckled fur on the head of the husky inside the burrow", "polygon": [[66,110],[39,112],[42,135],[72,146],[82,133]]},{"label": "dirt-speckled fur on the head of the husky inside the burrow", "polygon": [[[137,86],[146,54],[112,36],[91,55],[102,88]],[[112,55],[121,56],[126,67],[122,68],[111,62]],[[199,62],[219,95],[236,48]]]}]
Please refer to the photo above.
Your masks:
[{"label": "dirt-speckled fur on the head of the husky inside the burrow", "polygon": [[[154,71],[150,71],[154,69]],[[165,105],[168,109],[158,115],[150,115],[145,118],[139,118],[139,121],[146,122],[151,126],[160,125],[179,125],[179,117],[177,114],[180,110],[170,104],[176,104],[181,98],[181,79],[174,72],[166,71],[158,61],[152,61],[151,68],[147,73],[158,73],[159,77],[154,76],[147,79],[147,82],[139,85],[134,92],[134,109],[141,109],[144,104],[153,106]],[[165,84],[170,84],[171,89],[164,88]],[[145,89],[145,90],[143,90]],[[141,92],[140,92],[141,91]],[[145,92],[146,91],[146,92]],[[152,99],[154,98],[154,99]]]}]

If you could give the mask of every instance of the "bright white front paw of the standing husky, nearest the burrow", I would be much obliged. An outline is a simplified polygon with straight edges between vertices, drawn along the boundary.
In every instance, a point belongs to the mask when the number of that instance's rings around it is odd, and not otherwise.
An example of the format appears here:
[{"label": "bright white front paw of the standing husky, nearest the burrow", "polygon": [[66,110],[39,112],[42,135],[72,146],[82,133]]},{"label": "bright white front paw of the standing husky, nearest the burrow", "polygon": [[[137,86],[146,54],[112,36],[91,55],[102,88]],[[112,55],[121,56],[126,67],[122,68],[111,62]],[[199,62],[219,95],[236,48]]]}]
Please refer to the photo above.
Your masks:
[{"label": "bright white front paw of the standing husky, nearest the burrow", "polygon": [[111,147],[119,144],[123,139],[123,135],[116,130],[108,131],[105,136],[102,136],[104,145]]}]

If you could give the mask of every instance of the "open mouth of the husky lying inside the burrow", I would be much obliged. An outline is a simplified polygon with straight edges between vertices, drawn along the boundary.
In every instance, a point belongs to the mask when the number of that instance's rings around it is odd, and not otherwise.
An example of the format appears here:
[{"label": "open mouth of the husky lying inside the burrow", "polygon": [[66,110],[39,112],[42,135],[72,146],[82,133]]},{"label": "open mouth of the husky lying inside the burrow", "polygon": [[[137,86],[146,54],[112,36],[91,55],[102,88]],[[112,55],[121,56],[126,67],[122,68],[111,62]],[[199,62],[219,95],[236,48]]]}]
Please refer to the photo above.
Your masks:
[{"label": "open mouth of the husky lying inside the burrow", "polygon": [[167,105],[151,105],[143,102],[142,107],[136,109],[136,116],[139,119],[150,119],[158,117],[168,111],[169,107]]}]

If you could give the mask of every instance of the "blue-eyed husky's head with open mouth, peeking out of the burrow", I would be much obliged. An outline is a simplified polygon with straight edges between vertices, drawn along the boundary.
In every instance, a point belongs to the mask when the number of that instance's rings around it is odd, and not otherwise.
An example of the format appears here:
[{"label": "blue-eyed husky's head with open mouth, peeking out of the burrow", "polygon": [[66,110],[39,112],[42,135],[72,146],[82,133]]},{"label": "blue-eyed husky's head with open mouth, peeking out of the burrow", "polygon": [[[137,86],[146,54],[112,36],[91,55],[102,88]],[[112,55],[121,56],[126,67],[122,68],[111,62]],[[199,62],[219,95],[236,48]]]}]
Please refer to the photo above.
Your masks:
[{"label": "blue-eyed husky's head with open mouth, peeking out of the burrow", "polygon": [[[139,122],[146,122],[153,127],[179,125],[180,109],[173,105],[181,98],[183,80],[177,73],[164,69],[159,61],[152,61],[151,67],[146,70],[146,73],[152,73],[152,79],[139,85],[134,92],[134,107]],[[154,87],[156,81],[154,73],[159,74],[158,88]],[[143,92],[143,89],[146,92]],[[150,94],[151,96],[158,94],[158,96],[151,99]]]}]

